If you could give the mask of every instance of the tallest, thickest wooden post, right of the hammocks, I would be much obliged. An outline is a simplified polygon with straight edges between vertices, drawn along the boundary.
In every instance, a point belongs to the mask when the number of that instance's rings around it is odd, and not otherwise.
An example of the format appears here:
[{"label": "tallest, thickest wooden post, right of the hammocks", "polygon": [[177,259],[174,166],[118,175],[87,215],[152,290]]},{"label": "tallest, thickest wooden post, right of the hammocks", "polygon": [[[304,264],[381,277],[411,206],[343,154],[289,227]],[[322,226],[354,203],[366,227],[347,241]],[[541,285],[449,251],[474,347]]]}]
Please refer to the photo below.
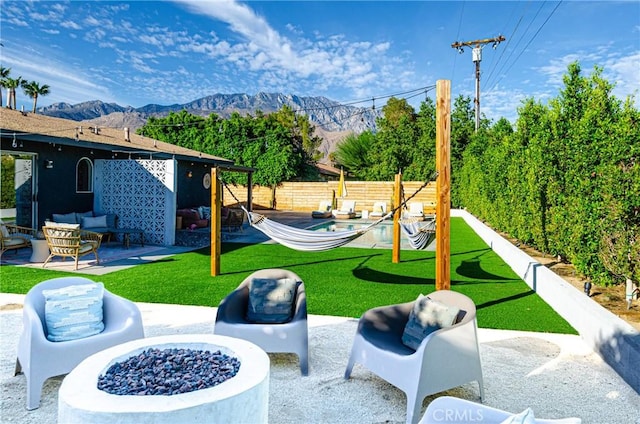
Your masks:
[{"label": "tallest, thickest wooden post, right of the hammocks", "polygon": [[451,287],[451,81],[436,82],[436,290]]}]

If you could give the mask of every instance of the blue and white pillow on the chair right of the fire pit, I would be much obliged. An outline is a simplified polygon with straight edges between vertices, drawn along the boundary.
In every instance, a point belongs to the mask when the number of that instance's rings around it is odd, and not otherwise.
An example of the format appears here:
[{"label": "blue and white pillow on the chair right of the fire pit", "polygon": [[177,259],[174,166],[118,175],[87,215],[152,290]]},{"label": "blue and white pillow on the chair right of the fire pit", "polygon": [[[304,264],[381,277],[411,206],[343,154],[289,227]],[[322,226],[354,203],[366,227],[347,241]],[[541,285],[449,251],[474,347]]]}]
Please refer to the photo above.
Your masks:
[{"label": "blue and white pillow on the chair right of the fire pit", "polygon": [[460,309],[448,306],[428,296],[419,295],[402,333],[402,343],[418,350],[422,340],[429,334],[456,323]]}]

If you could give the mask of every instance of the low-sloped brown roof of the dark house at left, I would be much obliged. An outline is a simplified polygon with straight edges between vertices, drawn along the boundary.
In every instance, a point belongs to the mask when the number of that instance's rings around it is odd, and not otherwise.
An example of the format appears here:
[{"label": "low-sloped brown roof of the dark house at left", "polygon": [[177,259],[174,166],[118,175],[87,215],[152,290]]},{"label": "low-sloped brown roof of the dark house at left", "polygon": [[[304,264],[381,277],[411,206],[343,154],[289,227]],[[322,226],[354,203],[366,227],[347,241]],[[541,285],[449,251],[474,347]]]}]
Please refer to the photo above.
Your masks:
[{"label": "low-sloped brown roof of the dark house at left", "polygon": [[24,138],[33,141],[55,142],[113,152],[158,153],[159,156],[175,156],[182,159],[199,159],[233,166],[233,161],[221,157],[165,143],[153,138],[134,134],[129,140],[124,128],[94,127],[79,121],[54,118],[46,115],[21,112],[0,107],[0,131],[3,137]]}]

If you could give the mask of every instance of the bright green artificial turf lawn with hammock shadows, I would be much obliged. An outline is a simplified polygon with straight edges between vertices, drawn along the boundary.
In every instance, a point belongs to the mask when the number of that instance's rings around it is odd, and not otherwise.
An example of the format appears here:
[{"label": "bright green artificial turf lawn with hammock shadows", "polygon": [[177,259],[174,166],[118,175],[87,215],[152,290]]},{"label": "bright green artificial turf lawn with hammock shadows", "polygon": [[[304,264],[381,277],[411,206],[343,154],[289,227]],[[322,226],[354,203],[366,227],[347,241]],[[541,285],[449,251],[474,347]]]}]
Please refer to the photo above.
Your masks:
[{"label": "bright green artificial turf lawn with hammock shadows", "polygon": [[[240,243],[223,243],[222,249],[221,275],[216,277],[210,274],[209,247],[85,276],[136,302],[217,306],[252,272],[286,268],[304,281],[310,314],[347,317],[435,290],[435,252],[430,251],[403,250],[400,263],[394,264],[390,249],[340,247],[310,253],[278,244]],[[576,334],[462,218],[451,219],[450,260],[451,290],[473,299],[480,327]],[[82,274],[3,265],[0,290],[24,294],[40,281],[65,275]]]}]

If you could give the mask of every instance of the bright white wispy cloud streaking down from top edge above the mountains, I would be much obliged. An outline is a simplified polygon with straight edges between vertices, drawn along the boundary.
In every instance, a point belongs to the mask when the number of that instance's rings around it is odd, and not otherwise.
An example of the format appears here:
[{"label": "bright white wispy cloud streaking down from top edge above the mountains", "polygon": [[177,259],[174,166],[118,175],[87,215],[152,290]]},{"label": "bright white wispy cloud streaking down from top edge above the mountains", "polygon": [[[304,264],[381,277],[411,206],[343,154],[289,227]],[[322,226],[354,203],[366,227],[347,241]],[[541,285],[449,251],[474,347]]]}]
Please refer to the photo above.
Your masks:
[{"label": "bright white wispy cloud streaking down from top edge above the mountains", "polygon": [[[385,56],[391,49],[390,42],[350,42],[342,34],[321,35],[314,40],[292,40],[278,33],[245,4],[234,1],[177,3],[194,13],[225,22],[231,31],[241,36],[241,41],[223,45],[196,43],[192,37],[191,43],[182,45],[181,49],[207,51],[212,57],[226,60],[239,68],[269,72],[270,76],[261,81],[269,83],[278,78],[281,88],[289,83],[290,89],[293,89],[305,83],[302,79],[312,78],[322,80],[327,87],[368,91],[372,83],[383,75],[380,69],[394,61],[394,58]],[[285,28],[296,36],[302,34],[291,24]],[[406,62],[398,63],[402,67],[407,66]],[[401,85],[399,74],[401,71],[389,73],[385,83]],[[403,74],[401,78],[406,75]]]}]

